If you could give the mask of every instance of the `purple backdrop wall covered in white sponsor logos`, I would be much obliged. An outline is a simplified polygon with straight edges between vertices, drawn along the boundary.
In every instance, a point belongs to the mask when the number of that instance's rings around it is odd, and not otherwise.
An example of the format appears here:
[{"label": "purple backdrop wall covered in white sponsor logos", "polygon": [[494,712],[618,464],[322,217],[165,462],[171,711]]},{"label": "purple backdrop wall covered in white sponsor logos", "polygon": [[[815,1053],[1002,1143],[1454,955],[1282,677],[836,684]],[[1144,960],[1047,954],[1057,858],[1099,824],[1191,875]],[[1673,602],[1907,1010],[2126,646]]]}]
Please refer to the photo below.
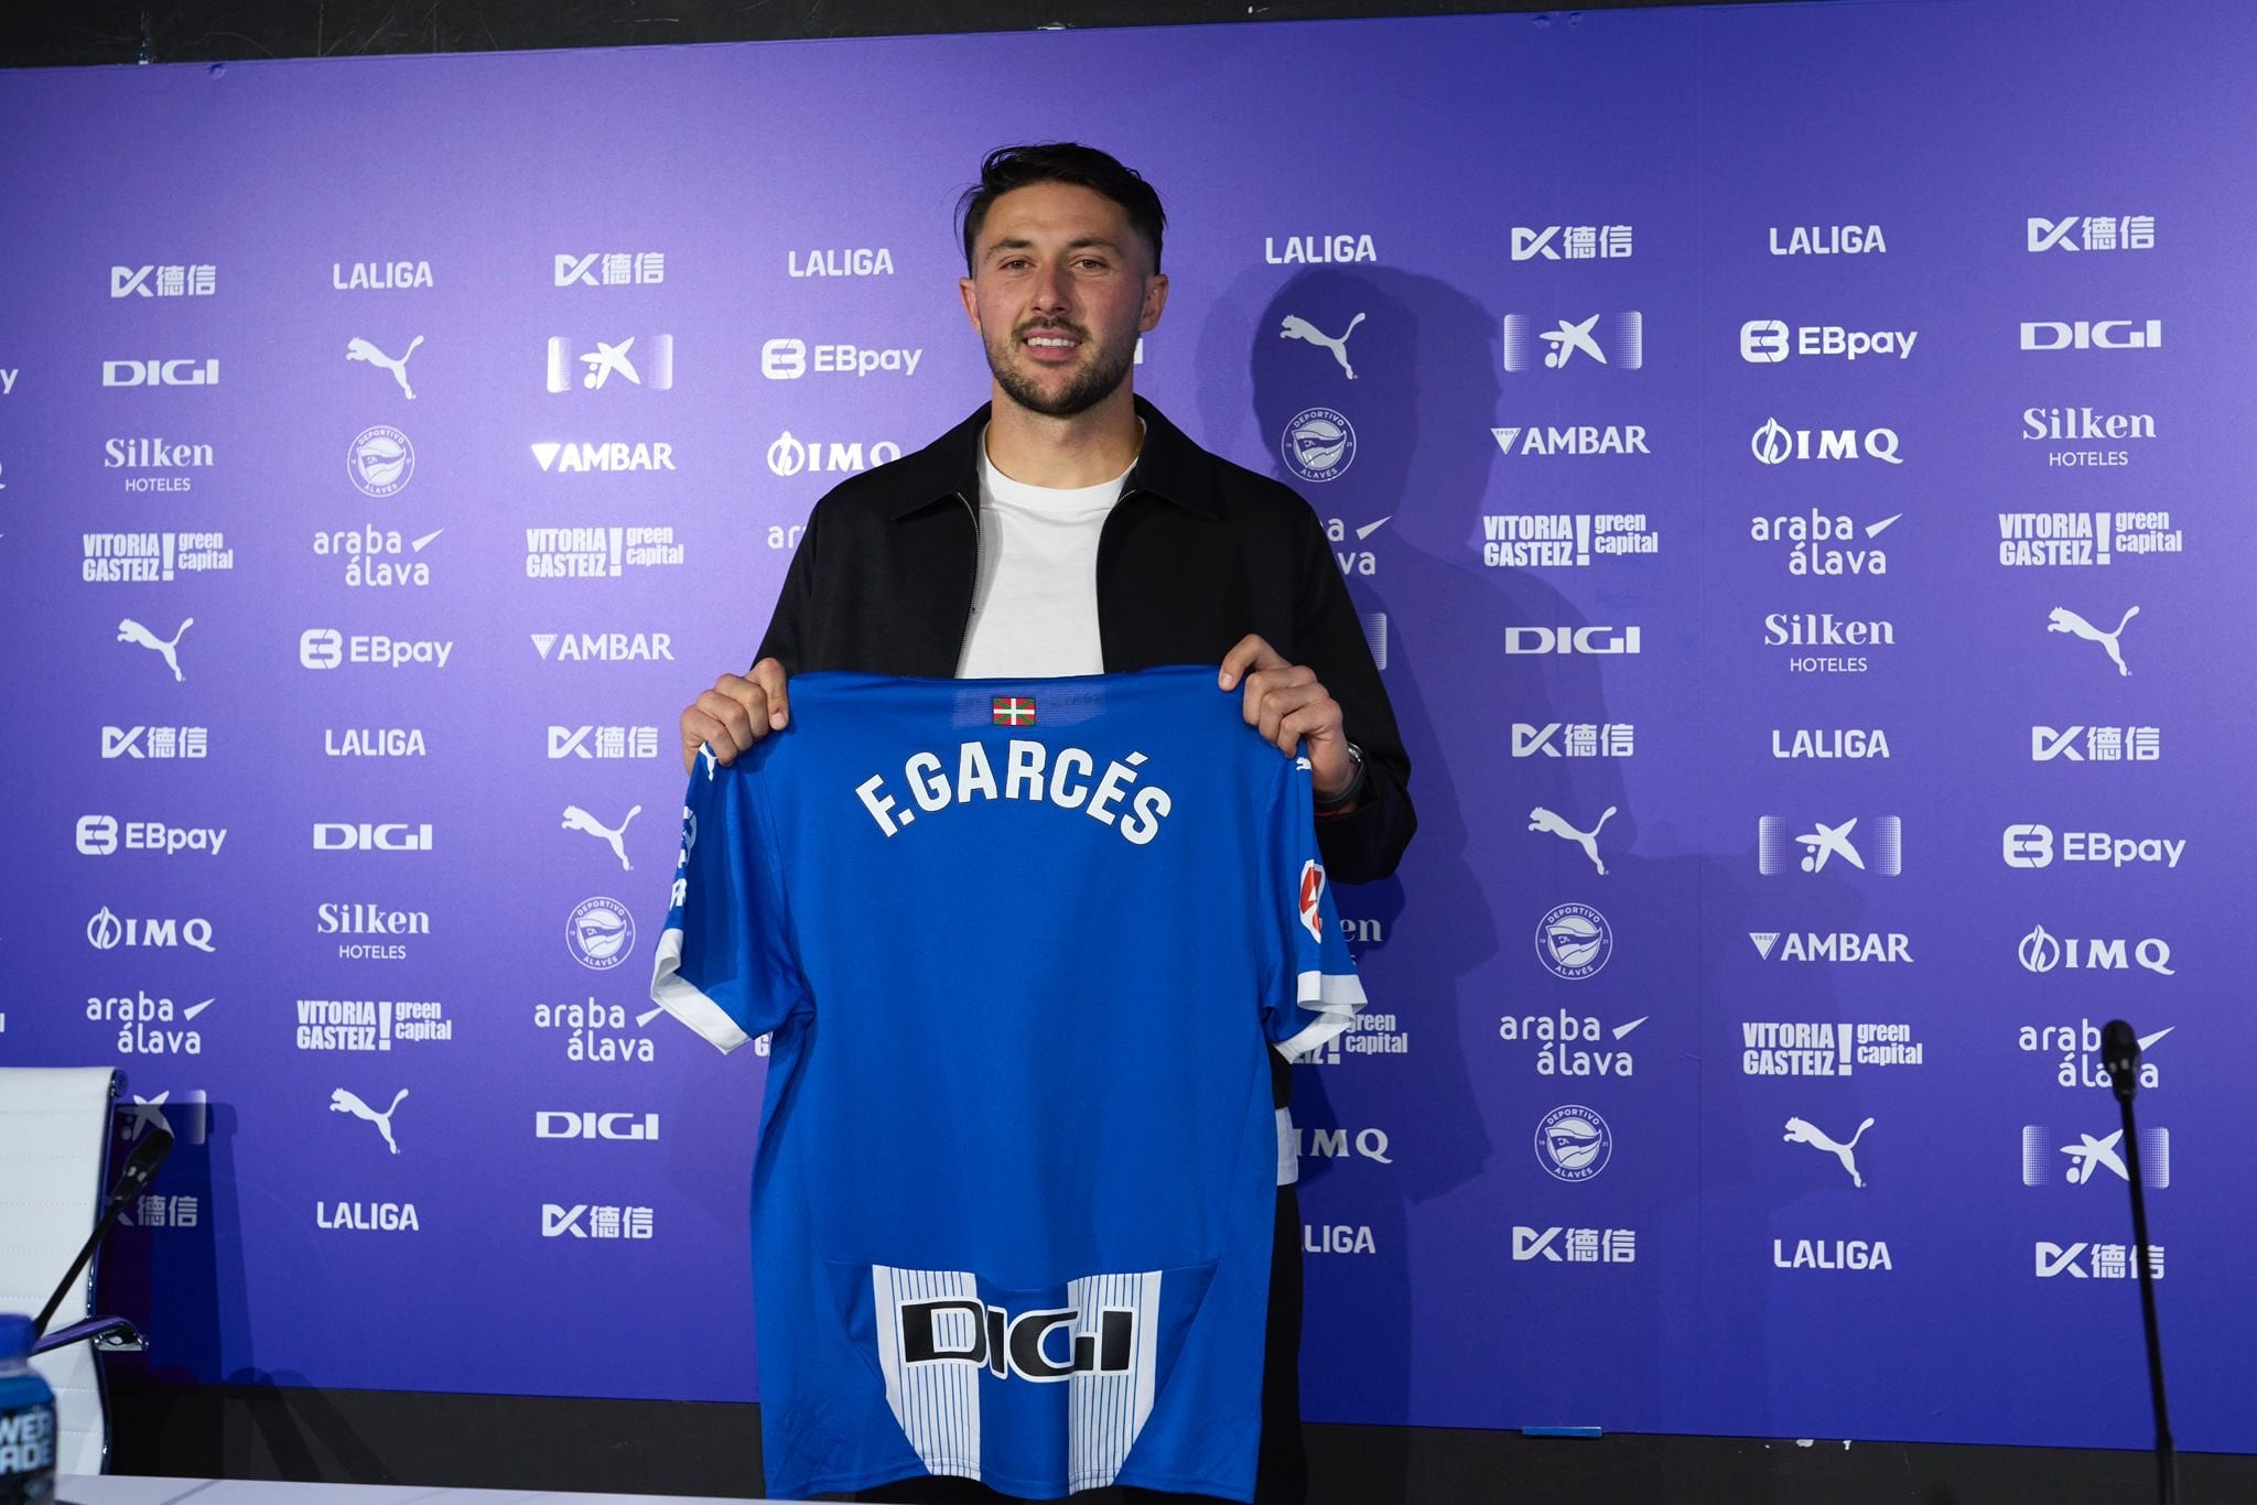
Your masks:
[{"label": "purple backdrop wall covered in white sponsor logos", "polygon": [[758,1397],[763,1063],[646,1002],[673,722],[980,402],[950,201],[1065,135],[1174,214],[1138,390],[1327,519],[1417,760],[1298,1085],[1309,1415],[2140,1446],[2122,1013],[2178,1435],[2257,1449],[2252,32],[9,74],[0,1060],[181,1135],[151,1372]]}]

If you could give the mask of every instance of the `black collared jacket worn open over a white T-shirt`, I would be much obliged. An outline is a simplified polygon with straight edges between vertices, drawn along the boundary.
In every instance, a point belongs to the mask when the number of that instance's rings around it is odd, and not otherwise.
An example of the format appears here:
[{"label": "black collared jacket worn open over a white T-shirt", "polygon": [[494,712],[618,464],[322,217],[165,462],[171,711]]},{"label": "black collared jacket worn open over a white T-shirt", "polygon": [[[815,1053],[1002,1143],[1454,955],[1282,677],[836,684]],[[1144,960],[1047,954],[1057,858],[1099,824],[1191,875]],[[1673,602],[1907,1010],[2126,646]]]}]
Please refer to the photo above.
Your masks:
[{"label": "black collared jacket worn open over a white T-shirt", "polygon": [[[1289,487],[1207,454],[1142,397],[1144,449],[1097,544],[1106,672],[1221,663],[1248,632],[1316,670],[1363,749],[1352,815],[1318,821],[1338,882],[1386,878],[1417,826],[1411,758],[1325,528]],[[980,571],[980,408],[815,503],[761,641],[785,672],[950,679]]]}]

